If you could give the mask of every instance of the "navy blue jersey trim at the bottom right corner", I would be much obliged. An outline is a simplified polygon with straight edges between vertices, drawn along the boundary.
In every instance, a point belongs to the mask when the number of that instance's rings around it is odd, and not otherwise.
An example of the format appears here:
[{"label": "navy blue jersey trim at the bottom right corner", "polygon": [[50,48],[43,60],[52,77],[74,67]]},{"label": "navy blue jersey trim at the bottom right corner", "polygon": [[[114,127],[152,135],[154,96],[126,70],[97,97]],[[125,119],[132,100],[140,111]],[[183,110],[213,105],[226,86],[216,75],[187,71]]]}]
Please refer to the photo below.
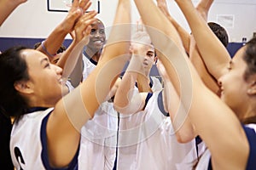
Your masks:
[{"label": "navy blue jersey trim at the bottom right corner", "polygon": [[250,153],[247,160],[247,170],[256,169],[256,133],[253,128],[244,127],[244,131],[247,134],[247,140],[250,145]]}]

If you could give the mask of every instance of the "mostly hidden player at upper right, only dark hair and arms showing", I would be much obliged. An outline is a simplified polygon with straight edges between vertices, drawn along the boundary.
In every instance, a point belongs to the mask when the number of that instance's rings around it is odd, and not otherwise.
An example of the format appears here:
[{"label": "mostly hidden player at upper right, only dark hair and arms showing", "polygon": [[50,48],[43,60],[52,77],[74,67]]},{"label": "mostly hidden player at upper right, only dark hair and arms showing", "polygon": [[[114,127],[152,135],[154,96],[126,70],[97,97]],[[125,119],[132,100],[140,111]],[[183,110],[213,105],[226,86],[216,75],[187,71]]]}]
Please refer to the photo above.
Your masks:
[{"label": "mostly hidden player at upper right, only dark hair and arms showing", "polygon": [[[212,2],[213,2],[212,0],[211,1],[202,0],[195,7],[198,13],[206,21],[208,18],[208,12],[212,6]],[[207,85],[207,88],[210,88],[213,93],[220,96],[218,81],[216,77],[213,77],[210,74],[210,72],[207,71],[207,68],[204,62],[201,59],[201,54],[198,51],[193,35],[190,35],[187,31],[185,31],[183,27],[180,26],[177,23],[177,21],[172,18],[171,14],[168,12],[168,9],[166,6],[166,0],[158,0],[157,4],[158,4],[158,7],[161,9],[161,11],[166,15],[168,20],[170,20],[173,26],[175,26],[175,28],[177,29],[179,36],[182,38],[183,47],[185,48],[186,53],[189,54],[189,59],[191,60],[193,65],[195,65],[195,69],[198,72],[198,74],[201,76],[202,81]],[[227,31],[225,31],[224,27],[214,22],[209,22],[208,26],[211,28],[214,34],[218,37],[219,41],[221,41],[224,44],[224,47],[227,47],[229,42],[229,36],[227,34]]]}]

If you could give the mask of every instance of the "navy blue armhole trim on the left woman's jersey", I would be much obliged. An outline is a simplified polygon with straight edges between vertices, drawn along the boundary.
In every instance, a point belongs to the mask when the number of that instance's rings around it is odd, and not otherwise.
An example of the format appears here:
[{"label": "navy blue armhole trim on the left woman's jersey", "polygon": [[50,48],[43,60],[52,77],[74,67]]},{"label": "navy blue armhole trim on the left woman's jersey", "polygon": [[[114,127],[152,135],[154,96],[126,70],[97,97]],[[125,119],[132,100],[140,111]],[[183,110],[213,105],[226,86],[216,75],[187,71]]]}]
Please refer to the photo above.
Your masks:
[{"label": "navy blue armhole trim on the left woman's jersey", "polygon": [[44,117],[42,121],[41,126],[41,142],[42,142],[42,153],[41,153],[41,159],[43,161],[44,167],[47,170],[78,170],[78,157],[79,157],[79,149],[77,150],[75,156],[73,156],[73,160],[69,163],[68,167],[62,167],[62,168],[53,168],[49,165],[49,157],[48,157],[48,149],[47,149],[47,137],[46,137],[46,124],[49,119],[51,111],[47,116]]}]

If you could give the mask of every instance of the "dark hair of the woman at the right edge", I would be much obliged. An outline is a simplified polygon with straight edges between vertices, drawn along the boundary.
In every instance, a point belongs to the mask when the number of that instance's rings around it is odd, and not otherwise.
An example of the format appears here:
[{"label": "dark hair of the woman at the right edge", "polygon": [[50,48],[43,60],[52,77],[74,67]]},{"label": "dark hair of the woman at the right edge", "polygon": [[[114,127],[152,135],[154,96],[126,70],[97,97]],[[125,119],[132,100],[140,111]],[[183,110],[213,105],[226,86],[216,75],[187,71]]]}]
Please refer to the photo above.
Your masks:
[{"label": "dark hair of the woman at the right edge", "polygon": [[253,37],[245,46],[243,59],[247,64],[247,69],[244,73],[244,78],[247,79],[256,73],[256,37]]}]

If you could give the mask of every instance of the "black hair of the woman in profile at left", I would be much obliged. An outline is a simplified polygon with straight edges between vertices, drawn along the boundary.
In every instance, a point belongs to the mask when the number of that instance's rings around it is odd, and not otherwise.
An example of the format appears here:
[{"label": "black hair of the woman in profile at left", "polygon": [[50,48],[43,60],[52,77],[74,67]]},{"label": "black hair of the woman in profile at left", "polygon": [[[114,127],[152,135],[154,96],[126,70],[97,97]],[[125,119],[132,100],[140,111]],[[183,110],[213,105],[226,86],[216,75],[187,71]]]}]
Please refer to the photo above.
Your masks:
[{"label": "black hair of the woman in profile at left", "polygon": [[15,82],[29,80],[26,60],[20,55],[26,47],[9,48],[0,54],[0,111],[17,120],[24,115],[27,102],[15,89]]}]

